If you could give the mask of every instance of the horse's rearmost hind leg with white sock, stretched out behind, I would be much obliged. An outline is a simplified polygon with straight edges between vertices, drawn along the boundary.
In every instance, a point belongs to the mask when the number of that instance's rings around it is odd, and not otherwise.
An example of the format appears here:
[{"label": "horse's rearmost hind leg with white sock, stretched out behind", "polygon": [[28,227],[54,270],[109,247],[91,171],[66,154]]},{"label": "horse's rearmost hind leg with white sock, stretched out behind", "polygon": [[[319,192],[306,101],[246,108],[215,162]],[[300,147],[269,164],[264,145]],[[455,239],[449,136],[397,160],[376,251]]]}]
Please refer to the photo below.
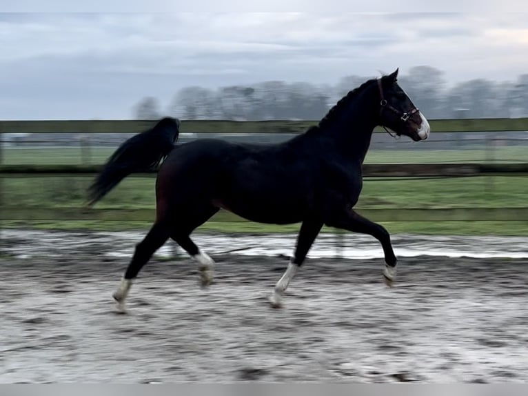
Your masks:
[{"label": "horse's rearmost hind leg with white sock, stretched out behind", "polygon": [[125,270],[125,275],[123,276],[123,279],[121,279],[119,288],[117,288],[116,292],[113,294],[120,310],[124,310],[125,308],[125,299],[130,290],[130,286],[132,286],[132,281],[137,277],[141,268],[147,264],[154,252],[165,244],[169,235],[170,228],[166,224],[156,222],[152,228],[150,228],[150,231],[143,241],[136,245],[132,261],[130,261],[128,268]]}]

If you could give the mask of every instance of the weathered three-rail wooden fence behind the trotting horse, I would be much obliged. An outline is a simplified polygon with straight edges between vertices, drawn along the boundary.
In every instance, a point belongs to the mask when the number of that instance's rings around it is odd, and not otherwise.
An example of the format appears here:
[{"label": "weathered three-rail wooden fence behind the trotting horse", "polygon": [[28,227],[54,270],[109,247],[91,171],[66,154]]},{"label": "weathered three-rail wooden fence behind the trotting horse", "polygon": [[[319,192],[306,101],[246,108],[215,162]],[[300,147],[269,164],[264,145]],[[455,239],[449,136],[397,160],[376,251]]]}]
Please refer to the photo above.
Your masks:
[{"label": "weathered three-rail wooden fence behind the trotting horse", "polygon": [[[136,133],[153,125],[145,120],[64,120],[64,121],[0,121],[3,133],[73,133],[101,132]],[[249,134],[300,133],[316,121],[183,121],[181,132]],[[521,119],[442,119],[431,120],[431,130],[441,132],[501,132],[527,131],[528,118]],[[376,133],[383,132],[376,129]],[[93,176],[101,168],[80,165],[3,165],[0,144],[0,183],[5,177]],[[528,153],[527,153],[528,154]],[[471,177],[478,175],[528,175],[527,160],[516,164],[366,164],[365,177]],[[152,177],[152,175],[134,175]],[[0,220],[119,220],[151,221],[151,209],[87,209],[5,206],[1,201]],[[374,221],[528,221],[528,208],[407,208],[363,209]],[[219,212],[217,221],[243,221],[227,212]]]}]

